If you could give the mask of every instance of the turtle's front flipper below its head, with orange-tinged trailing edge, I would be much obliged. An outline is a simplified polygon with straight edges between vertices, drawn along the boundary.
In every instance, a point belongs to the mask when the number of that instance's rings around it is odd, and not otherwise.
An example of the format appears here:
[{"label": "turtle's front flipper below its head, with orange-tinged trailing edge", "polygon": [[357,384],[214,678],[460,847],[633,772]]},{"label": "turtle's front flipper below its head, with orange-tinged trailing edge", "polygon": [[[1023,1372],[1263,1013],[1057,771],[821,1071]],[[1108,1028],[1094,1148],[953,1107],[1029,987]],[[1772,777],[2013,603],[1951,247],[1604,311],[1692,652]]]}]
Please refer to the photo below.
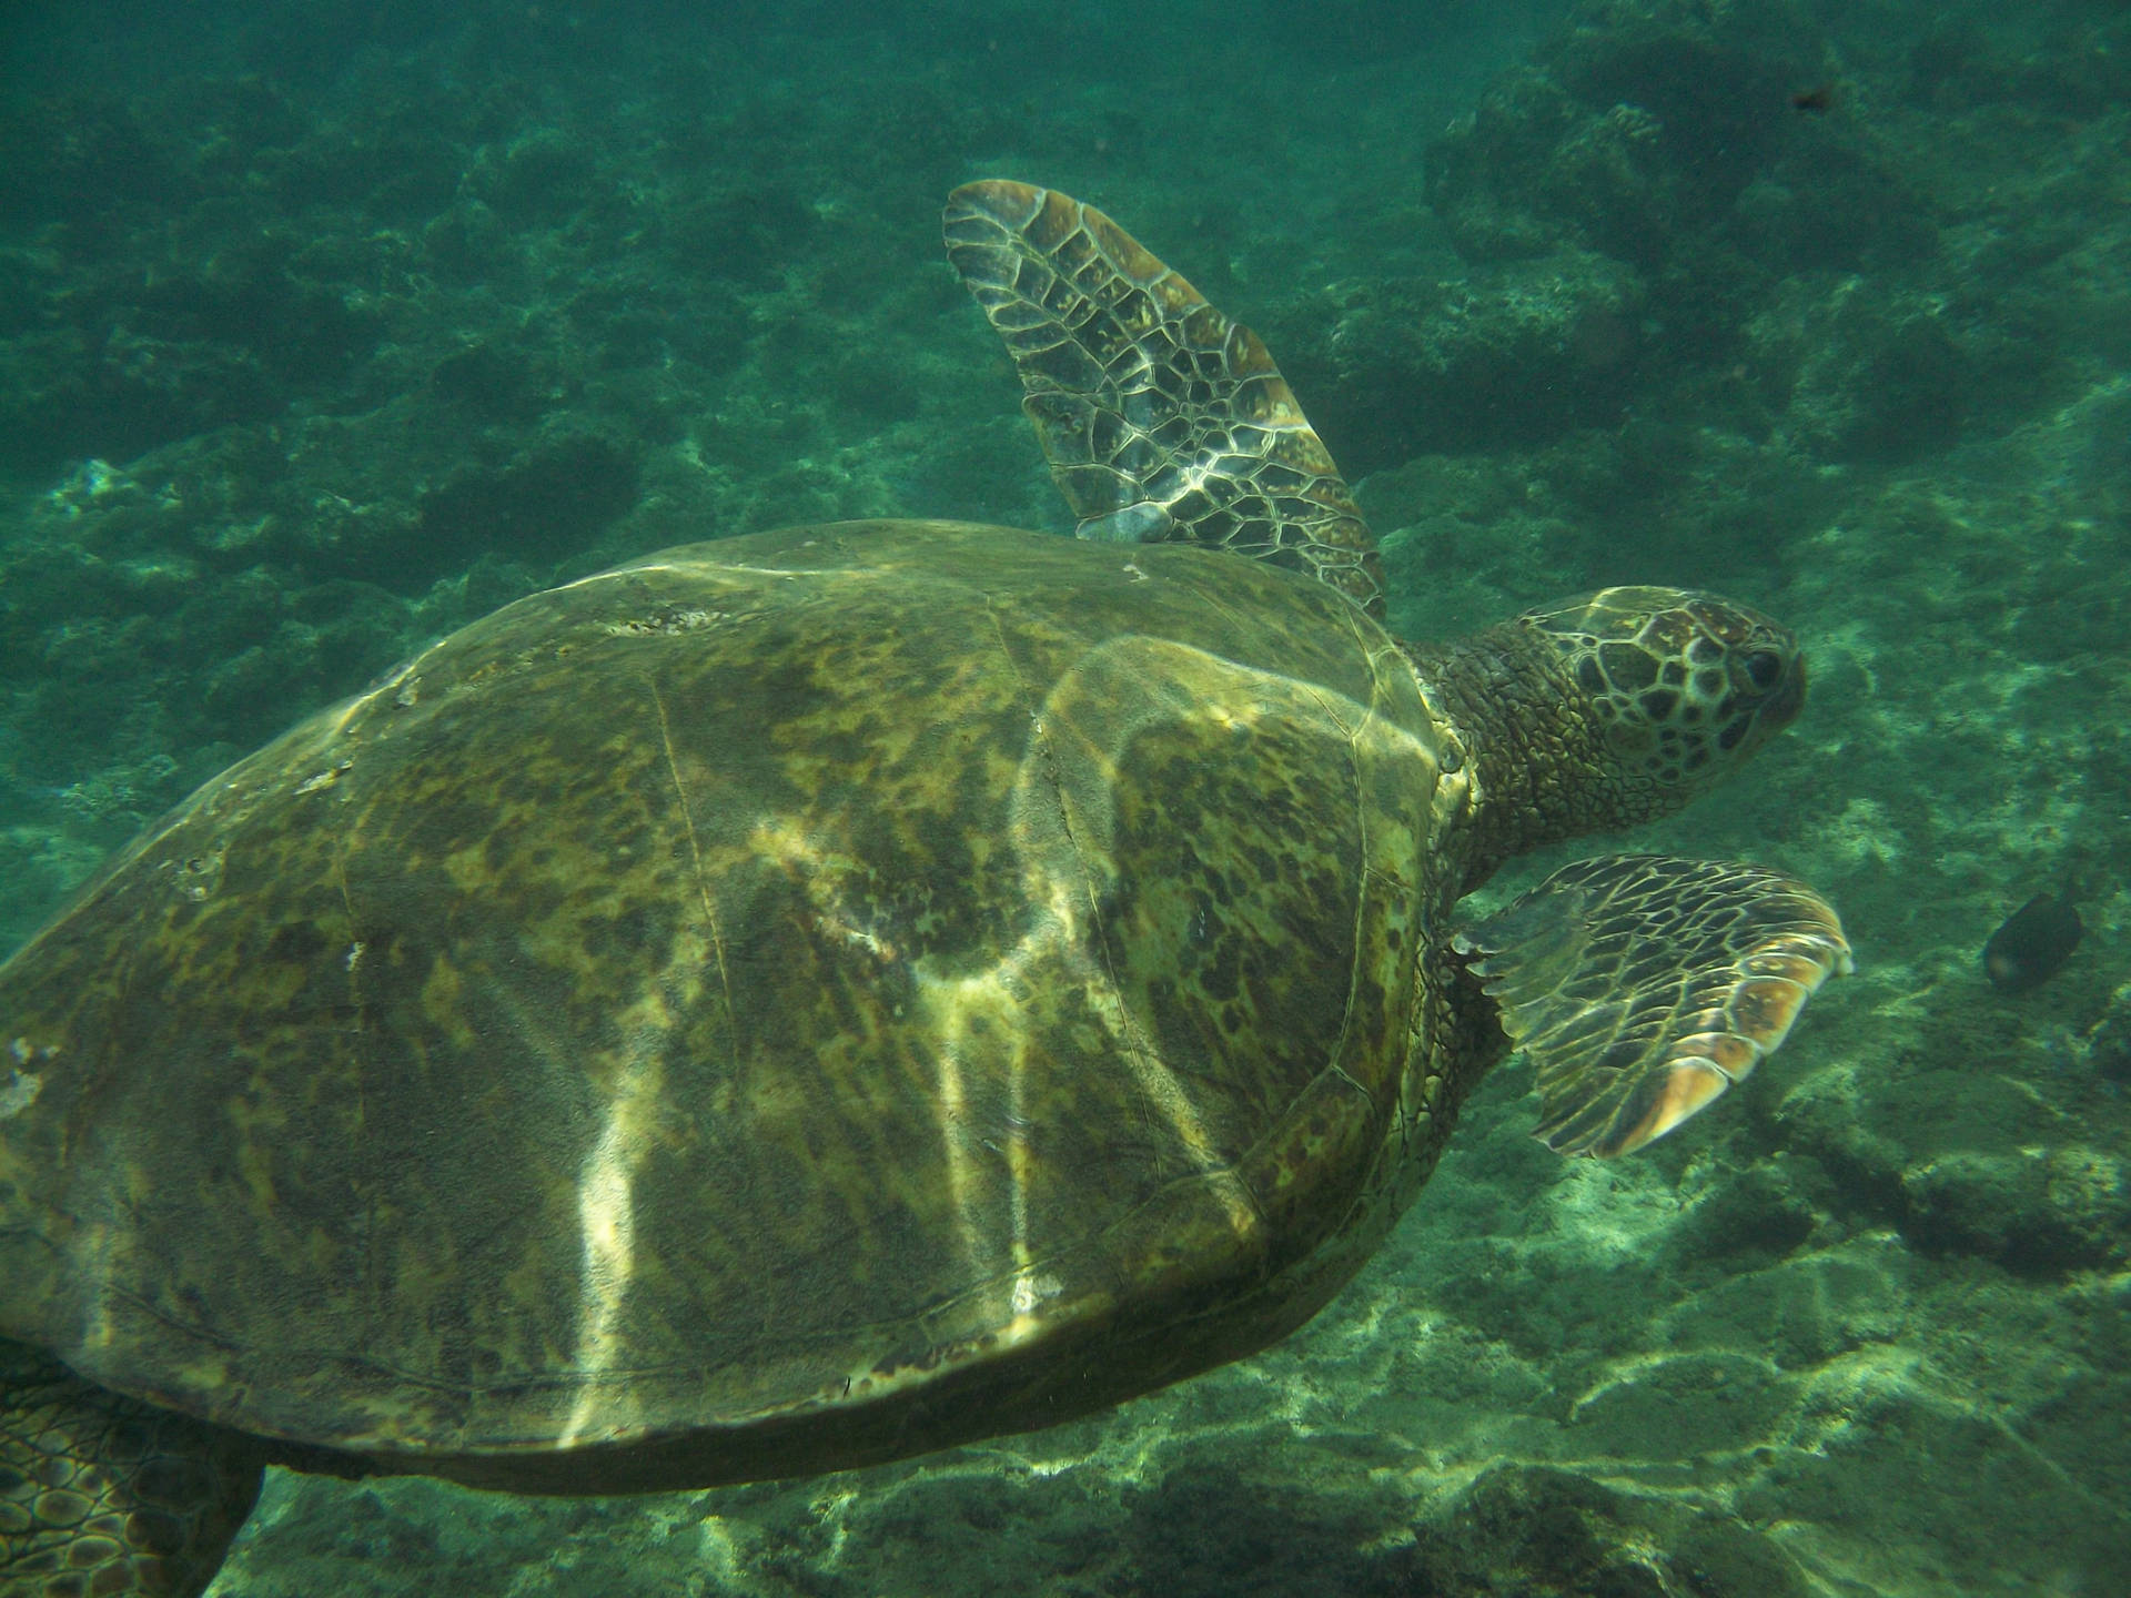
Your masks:
[{"label": "turtle's front flipper below its head, with orange-tinged trailing edge", "polygon": [[1662,854],[1562,867],[1455,946],[1530,1055],[1536,1136],[1562,1155],[1662,1138],[1850,972],[1841,920],[1803,882]]}]

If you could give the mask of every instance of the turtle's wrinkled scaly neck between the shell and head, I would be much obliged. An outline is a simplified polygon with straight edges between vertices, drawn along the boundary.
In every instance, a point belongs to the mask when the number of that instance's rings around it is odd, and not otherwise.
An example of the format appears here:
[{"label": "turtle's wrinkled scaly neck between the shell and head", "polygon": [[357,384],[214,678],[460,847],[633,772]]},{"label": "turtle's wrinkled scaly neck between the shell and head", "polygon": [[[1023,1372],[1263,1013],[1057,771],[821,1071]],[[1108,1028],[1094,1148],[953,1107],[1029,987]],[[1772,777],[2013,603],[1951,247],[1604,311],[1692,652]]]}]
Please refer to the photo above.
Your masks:
[{"label": "turtle's wrinkled scaly neck between the shell and head", "polygon": [[1626,827],[1669,805],[1624,782],[1620,761],[1551,639],[1526,620],[1451,643],[1402,643],[1451,718],[1475,805],[1455,848],[1470,893],[1513,854]]}]

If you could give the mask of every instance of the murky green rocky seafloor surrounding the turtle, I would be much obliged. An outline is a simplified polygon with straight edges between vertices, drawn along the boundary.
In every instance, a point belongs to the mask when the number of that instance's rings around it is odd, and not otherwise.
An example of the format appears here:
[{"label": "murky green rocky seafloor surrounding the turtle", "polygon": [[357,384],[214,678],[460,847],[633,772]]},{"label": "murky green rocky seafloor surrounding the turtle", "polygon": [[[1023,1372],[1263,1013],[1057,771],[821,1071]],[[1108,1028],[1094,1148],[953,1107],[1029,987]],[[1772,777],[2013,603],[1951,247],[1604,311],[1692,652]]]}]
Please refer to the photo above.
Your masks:
[{"label": "murky green rocky seafloor surrounding the turtle", "polygon": [[[1622,580],[1794,624],[1801,724],[1634,844],[1794,871],[1858,950],[1628,1161],[1547,1155],[1504,1067],[1247,1364],[808,1483],[277,1474],[219,1598],[2125,1587],[2120,9],[124,15],[6,23],[0,946],[533,586],[797,520],[1063,526],[936,239],[1002,173],[1266,335],[1400,629]],[[2065,884],[2080,950],[1992,989]]]}]

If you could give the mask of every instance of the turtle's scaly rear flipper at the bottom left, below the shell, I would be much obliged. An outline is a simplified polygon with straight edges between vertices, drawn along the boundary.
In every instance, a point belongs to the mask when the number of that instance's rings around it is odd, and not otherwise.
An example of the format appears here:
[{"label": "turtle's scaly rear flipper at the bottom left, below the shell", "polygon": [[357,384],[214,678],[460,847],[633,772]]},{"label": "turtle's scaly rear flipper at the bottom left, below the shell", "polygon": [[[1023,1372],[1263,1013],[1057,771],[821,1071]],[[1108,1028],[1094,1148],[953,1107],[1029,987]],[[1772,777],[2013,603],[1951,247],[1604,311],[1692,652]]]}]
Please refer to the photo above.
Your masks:
[{"label": "turtle's scaly rear flipper at the bottom left, below the shell", "polygon": [[194,1598],[262,1472],[251,1438],[0,1338],[0,1598]]}]

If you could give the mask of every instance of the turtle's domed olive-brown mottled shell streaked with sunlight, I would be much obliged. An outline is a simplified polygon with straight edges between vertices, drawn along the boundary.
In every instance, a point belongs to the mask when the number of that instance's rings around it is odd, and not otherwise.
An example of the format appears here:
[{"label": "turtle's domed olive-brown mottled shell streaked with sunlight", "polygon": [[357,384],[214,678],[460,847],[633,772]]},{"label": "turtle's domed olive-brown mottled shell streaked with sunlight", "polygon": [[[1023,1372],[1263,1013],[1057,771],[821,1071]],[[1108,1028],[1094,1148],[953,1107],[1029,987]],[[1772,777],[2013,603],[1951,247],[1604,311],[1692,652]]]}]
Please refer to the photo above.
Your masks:
[{"label": "turtle's domed olive-brown mottled shell streaked with sunlight", "polygon": [[1355,605],[1195,548],[842,524],[524,599],[0,969],[0,1332],[543,1489],[1249,1353],[1438,1140],[1447,748]]}]

